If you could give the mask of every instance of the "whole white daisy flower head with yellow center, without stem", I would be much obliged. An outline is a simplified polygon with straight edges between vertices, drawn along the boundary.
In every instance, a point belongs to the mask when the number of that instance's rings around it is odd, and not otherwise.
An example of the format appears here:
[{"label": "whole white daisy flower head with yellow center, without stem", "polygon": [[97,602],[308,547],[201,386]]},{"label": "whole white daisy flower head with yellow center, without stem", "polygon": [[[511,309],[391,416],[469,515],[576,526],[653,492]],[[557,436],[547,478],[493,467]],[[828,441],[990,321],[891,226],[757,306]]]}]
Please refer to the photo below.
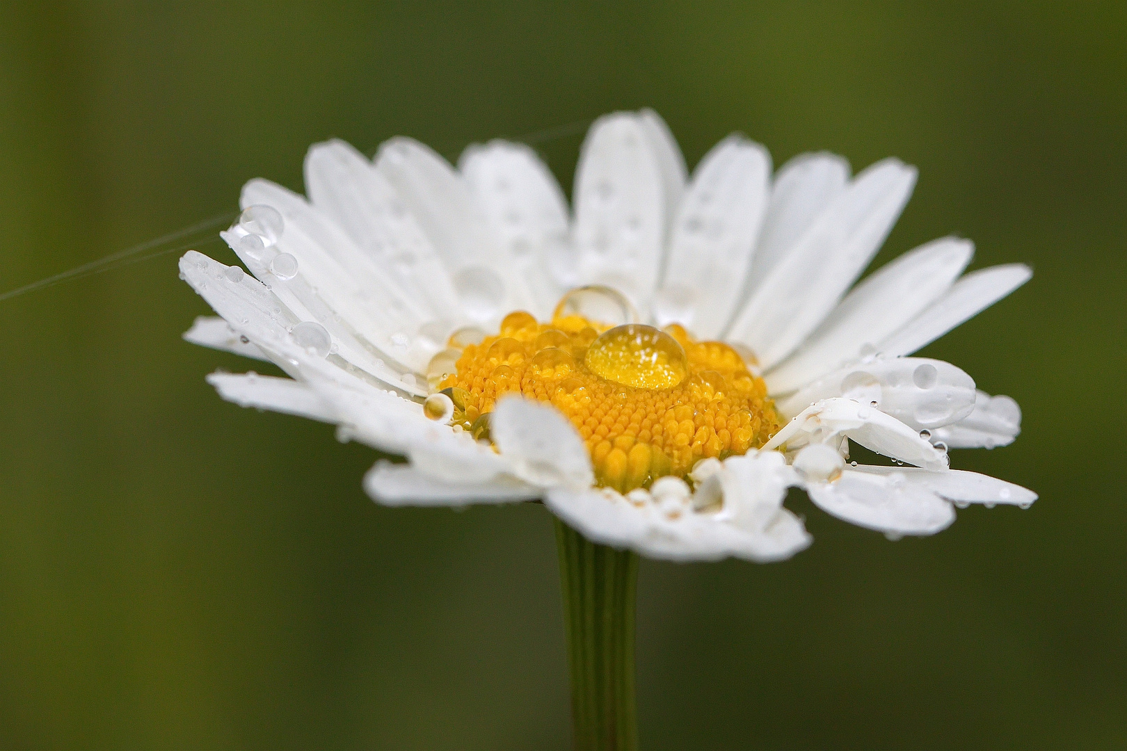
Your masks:
[{"label": "whole white daisy flower head with yellow center, without stem", "polygon": [[[366,476],[382,503],[542,499],[651,557],[773,561],[810,543],[782,504],[798,486],[853,524],[928,535],[952,504],[1036,499],[948,466],[947,448],[1014,439],[1013,400],[909,357],[1030,270],[960,276],[973,245],[944,238],[853,286],[914,184],[895,159],[850,177],[827,153],[772,177],[738,135],[689,178],[649,110],[592,126],[570,212],[522,144],[471,146],[455,169],[409,138],[374,163],[331,141],[305,160],[308,198],[243,188],[222,235],[250,275],[181,259],[222,316],[185,338],[290,376],[213,374],[224,399],[406,456]],[[912,466],[858,466],[851,440]]]}]

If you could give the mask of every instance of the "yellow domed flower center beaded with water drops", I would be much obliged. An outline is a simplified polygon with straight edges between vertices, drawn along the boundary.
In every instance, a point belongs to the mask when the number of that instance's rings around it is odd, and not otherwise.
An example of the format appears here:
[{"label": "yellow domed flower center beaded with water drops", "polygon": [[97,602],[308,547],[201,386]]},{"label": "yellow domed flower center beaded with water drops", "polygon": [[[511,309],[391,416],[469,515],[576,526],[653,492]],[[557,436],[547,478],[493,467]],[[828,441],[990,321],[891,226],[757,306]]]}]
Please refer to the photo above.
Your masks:
[{"label": "yellow domed flower center beaded with water drops", "polygon": [[488,439],[505,393],[550,402],[583,436],[596,482],[620,492],[758,448],[781,427],[766,385],[736,350],[677,324],[612,328],[561,304],[551,323],[517,311],[498,336],[473,339],[456,332],[432,361],[453,424]]}]

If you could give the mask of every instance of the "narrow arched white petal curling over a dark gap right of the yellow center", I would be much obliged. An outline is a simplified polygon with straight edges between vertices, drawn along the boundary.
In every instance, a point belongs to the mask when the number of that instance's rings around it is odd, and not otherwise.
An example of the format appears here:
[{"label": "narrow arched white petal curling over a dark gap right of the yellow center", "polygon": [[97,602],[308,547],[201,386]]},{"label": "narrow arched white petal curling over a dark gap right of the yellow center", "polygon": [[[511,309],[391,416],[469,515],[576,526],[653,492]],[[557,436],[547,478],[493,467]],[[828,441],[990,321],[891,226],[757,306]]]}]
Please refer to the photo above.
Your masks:
[{"label": "narrow arched white petal curling over a dark gap right of the yellow center", "polygon": [[852,399],[826,399],[802,410],[763,446],[793,452],[808,444],[837,447],[843,437],[871,452],[929,470],[944,470],[947,454],[896,418]]}]

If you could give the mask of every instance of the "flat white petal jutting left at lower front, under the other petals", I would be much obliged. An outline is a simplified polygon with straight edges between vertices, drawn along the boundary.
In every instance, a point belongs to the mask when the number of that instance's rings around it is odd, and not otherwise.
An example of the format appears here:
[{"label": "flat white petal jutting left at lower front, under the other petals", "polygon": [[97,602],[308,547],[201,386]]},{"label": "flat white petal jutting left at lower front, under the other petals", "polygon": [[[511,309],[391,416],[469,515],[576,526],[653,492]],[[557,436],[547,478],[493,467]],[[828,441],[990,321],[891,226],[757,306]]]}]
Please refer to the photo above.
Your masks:
[{"label": "flat white petal jutting left at lower front, under the other petals", "polygon": [[509,503],[540,498],[541,490],[515,477],[488,482],[444,482],[402,464],[380,463],[364,475],[364,490],[384,506]]}]

